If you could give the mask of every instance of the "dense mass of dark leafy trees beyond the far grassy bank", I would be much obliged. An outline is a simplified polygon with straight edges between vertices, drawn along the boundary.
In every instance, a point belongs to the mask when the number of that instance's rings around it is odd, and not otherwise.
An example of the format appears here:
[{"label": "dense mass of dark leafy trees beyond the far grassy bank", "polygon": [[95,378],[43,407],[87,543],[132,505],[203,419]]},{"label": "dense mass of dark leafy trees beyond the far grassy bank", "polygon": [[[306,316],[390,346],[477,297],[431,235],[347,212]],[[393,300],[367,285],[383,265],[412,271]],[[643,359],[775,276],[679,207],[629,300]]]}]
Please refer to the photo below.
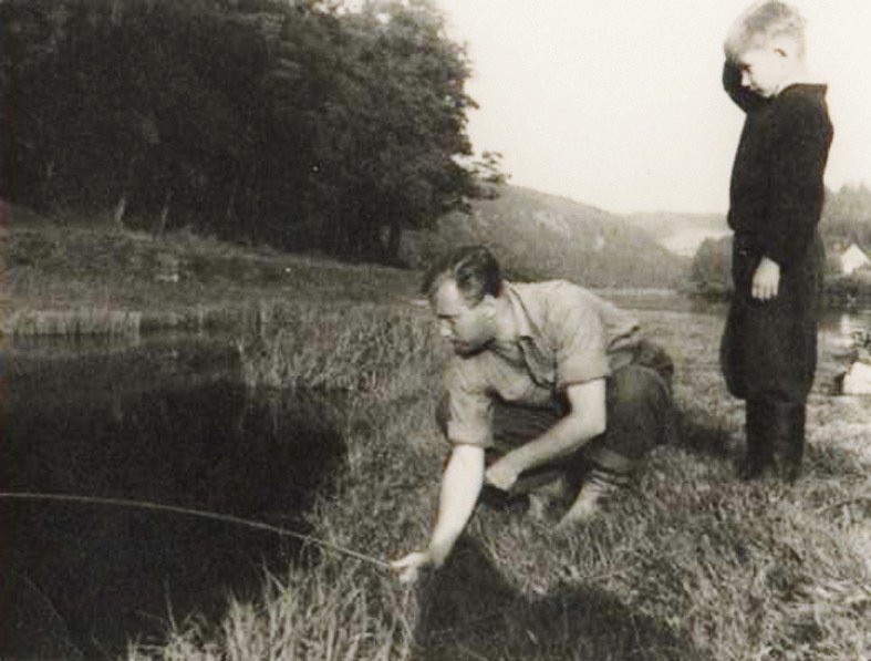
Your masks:
[{"label": "dense mass of dark leafy trees beyond the far grassy bank", "polygon": [[431,0],[0,0],[2,196],[395,258],[499,178]]}]

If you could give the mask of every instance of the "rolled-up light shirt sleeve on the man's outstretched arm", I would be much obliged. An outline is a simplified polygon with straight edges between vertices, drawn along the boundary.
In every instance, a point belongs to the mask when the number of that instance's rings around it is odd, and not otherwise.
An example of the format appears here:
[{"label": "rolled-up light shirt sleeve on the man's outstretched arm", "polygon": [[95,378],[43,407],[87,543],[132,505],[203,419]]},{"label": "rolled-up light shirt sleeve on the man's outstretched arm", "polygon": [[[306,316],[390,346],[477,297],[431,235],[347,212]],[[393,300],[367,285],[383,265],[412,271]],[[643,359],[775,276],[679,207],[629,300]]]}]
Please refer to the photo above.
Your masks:
[{"label": "rolled-up light shirt sleeve on the man's outstretched arm", "polygon": [[455,362],[445,372],[447,438],[454,445],[490,447],[494,402],[466,372],[462,362]]}]

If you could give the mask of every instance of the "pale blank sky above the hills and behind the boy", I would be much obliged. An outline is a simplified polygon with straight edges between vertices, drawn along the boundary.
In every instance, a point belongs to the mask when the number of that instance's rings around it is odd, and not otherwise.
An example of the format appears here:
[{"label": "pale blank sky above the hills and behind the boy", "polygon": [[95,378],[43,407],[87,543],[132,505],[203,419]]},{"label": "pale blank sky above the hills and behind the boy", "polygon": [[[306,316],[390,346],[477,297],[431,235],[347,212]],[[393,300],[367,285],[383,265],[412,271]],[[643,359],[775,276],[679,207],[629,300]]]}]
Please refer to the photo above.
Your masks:
[{"label": "pale blank sky above the hills and behind the boy", "polygon": [[[744,115],[723,39],[748,0],[436,0],[474,68],[477,152],[511,183],[618,211],[716,211]],[[871,183],[871,0],[794,0],[829,84],[826,182]]]}]

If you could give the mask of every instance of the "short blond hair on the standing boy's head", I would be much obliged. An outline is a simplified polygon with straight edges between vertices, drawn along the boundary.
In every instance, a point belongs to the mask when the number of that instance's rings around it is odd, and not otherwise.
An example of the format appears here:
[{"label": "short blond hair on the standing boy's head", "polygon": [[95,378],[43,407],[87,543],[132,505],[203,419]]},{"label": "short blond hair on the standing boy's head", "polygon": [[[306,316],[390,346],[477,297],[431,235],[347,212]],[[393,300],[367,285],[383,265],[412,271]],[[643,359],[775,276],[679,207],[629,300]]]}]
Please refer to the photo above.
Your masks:
[{"label": "short blond hair on the standing boy's head", "polygon": [[805,56],[807,21],[801,12],[786,2],[763,0],[748,7],[735,20],[724,43],[726,56],[737,61],[747,51],[765,47],[774,39],[787,37]]}]

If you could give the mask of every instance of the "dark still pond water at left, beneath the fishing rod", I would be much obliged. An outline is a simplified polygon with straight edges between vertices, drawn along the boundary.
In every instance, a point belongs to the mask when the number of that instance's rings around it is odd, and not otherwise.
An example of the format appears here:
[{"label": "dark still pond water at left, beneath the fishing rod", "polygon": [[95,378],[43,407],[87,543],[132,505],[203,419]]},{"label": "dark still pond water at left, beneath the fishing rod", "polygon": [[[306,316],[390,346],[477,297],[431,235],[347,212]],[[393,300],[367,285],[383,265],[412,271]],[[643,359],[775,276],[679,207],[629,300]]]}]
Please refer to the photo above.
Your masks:
[{"label": "dark still pond water at left, beneath the fishing rod", "polygon": [[[246,390],[215,339],[18,345],[3,357],[0,490],[123,498],[305,533],[343,456],[340,406]],[[0,658],[108,658],[216,614],[292,538],[136,507],[0,498]]]}]

